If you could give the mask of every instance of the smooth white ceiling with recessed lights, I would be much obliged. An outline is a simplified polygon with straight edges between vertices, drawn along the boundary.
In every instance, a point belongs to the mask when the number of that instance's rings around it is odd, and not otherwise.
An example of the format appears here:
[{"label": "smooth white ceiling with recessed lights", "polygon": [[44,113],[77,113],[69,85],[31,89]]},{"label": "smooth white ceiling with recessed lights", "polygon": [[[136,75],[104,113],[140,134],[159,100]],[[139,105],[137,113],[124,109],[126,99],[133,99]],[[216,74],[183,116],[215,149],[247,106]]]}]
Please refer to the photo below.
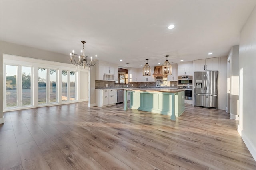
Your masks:
[{"label": "smooth white ceiling with recessed lights", "polygon": [[[256,1],[0,1],[0,38],[140,68],[227,56]],[[174,29],[168,25],[174,24]],[[212,52],[212,55],[208,55]],[[123,61],[119,61],[123,59]]]}]

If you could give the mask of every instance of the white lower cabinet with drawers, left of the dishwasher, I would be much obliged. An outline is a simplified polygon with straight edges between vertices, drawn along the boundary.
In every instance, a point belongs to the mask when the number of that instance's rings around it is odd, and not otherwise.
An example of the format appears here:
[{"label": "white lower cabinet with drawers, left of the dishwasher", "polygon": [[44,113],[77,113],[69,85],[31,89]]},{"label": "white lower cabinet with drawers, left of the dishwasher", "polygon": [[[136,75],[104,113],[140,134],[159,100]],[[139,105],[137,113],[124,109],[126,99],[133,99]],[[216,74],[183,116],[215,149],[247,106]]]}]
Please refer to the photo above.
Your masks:
[{"label": "white lower cabinet with drawers, left of the dishwasher", "polygon": [[98,90],[95,89],[96,106],[105,107],[115,105],[115,91],[116,90]]}]

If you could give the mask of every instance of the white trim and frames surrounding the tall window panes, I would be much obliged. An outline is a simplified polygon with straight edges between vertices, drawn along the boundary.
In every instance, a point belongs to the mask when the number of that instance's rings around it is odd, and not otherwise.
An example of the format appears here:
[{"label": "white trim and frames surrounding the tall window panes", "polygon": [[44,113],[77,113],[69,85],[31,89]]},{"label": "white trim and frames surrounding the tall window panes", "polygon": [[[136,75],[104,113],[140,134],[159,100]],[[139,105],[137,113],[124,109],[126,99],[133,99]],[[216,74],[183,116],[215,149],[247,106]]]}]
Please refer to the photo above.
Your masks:
[{"label": "white trim and frames surrounding the tall window panes", "polygon": [[[60,105],[60,104],[69,104],[69,103],[76,103],[76,102],[81,102],[81,101],[87,101],[88,98],[86,99],[80,99],[80,94],[79,94],[79,89],[80,89],[80,72],[88,72],[89,73],[89,68],[86,67],[85,69],[80,67],[80,66],[75,66],[73,64],[67,64],[67,63],[60,63],[60,62],[54,62],[54,61],[46,61],[46,60],[42,60],[42,59],[34,59],[34,58],[30,58],[30,57],[21,57],[21,56],[16,56],[16,55],[8,55],[8,54],[3,54],[3,61],[4,61],[4,68],[6,68],[6,65],[13,65],[13,66],[17,66],[17,72],[18,69],[19,72],[17,73],[18,77],[21,77],[20,75],[22,74],[21,68],[22,66],[27,66],[27,67],[31,67],[31,105],[29,106],[21,106],[22,104],[21,102],[21,97],[19,97],[17,100],[17,107],[4,107],[4,111],[13,111],[13,110],[20,110],[20,109],[28,109],[28,108],[36,108],[36,107],[44,107],[44,106],[54,106],[54,105]],[[38,105],[38,68],[46,68],[47,72],[46,72],[46,86],[49,86],[49,82],[47,80],[49,80],[50,75],[49,75],[49,71],[50,69],[56,70],[56,76],[57,76],[57,80],[56,80],[56,88],[58,88],[58,92],[57,93],[57,101],[56,102],[52,102],[50,103],[50,92],[49,90],[46,91],[46,104],[41,104]],[[66,70],[68,71],[67,74],[70,75],[71,71],[74,71],[76,74],[76,94],[75,94],[75,100],[70,100],[70,101],[62,101],[61,100],[61,72],[62,70]],[[6,75],[6,69],[4,69],[4,75]],[[87,80],[88,81],[88,80]],[[17,95],[22,96],[18,91],[18,86],[22,86],[21,85],[22,80],[20,78],[17,78]],[[4,84],[6,84],[6,78],[4,78]],[[70,86],[70,77],[68,76],[68,100],[70,98],[70,90],[69,90],[69,86]],[[20,88],[20,87],[19,87]],[[21,88],[20,88],[21,89]],[[6,90],[4,90],[4,106],[6,106]]]}]

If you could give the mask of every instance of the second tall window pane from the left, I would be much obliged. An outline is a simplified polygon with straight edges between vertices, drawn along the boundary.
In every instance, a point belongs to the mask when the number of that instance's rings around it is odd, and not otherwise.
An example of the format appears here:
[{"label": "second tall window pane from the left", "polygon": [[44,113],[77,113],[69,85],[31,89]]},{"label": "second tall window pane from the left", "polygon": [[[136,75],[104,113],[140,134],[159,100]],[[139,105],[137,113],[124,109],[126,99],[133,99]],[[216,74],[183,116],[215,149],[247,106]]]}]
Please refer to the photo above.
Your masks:
[{"label": "second tall window pane from the left", "polygon": [[22,66],[22,106],[31,105],[31,67]]}]

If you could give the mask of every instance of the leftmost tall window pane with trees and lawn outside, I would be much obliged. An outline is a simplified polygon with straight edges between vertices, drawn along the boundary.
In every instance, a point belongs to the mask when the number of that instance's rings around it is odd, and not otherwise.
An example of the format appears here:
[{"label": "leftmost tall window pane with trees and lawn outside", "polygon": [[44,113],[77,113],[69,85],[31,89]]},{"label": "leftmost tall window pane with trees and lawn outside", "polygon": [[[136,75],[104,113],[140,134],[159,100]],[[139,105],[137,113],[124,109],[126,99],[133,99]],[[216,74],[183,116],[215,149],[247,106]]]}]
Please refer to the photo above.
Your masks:
[{"label": "leftmost tall window pane with trees and lawn outside", "polygon": [[6,65],[6,107],[17,106],[17,66]]}]

